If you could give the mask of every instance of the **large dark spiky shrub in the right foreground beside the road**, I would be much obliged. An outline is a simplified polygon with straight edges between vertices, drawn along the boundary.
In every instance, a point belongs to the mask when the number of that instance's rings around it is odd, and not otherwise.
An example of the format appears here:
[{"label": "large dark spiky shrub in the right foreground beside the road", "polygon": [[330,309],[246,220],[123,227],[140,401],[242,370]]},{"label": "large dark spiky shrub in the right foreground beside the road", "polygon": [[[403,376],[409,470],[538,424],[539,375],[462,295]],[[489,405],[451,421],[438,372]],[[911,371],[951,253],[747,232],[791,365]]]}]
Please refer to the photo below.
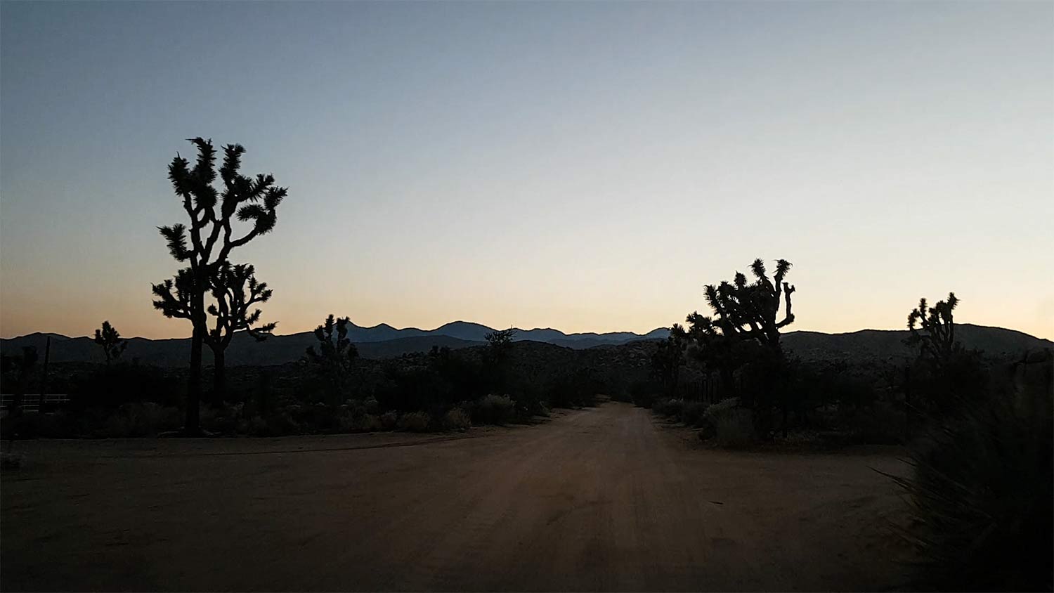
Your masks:
[{"label": "large dark spiky shrub in the right foreground beside the road", "polygon": [[919,587],[1050,591],[1054,530],[1054,400],[1050,387],[961,400],[911,449],[911,495],[921,533]]}]

